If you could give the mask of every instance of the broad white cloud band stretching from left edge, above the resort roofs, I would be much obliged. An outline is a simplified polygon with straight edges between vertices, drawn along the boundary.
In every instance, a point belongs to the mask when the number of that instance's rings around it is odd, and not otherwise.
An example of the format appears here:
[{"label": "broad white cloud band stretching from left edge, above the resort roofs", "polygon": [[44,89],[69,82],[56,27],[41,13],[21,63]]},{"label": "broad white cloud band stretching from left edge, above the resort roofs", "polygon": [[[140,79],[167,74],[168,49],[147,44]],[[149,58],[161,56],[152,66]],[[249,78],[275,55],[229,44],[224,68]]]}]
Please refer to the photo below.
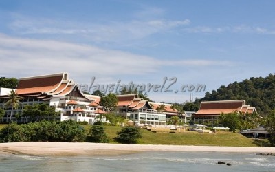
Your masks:
[{"label": "broad white cloud band stretching from left edge, above the resort roofs", "polygon": [[[1,74],[33,76],[69,72],[85,82],[91,76],[144,76],[162,67],[230,65],[228,61],[162,60],[118,50],[61,41],[22,39],[0,34]],[[81,79],[82,78],[82,79]]]}]

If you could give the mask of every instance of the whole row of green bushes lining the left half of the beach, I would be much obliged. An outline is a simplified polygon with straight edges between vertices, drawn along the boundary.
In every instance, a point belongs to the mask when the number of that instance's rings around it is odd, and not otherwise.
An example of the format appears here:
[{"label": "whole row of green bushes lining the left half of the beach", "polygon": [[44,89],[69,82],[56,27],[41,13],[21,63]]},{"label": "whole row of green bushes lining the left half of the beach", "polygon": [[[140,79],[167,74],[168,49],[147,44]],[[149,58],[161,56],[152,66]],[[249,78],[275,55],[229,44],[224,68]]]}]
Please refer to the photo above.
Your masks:
[{"label": "whole row of green bushes lining the left half of the beach", "polygon": [[[142,138],[139,128],[124,127],[115,138],[118,142],[133,144]],[[0,142],[109,142],[102,125],[85,128],[74,120],[42,120],[18,125],[12,123],[0,131]]]}]

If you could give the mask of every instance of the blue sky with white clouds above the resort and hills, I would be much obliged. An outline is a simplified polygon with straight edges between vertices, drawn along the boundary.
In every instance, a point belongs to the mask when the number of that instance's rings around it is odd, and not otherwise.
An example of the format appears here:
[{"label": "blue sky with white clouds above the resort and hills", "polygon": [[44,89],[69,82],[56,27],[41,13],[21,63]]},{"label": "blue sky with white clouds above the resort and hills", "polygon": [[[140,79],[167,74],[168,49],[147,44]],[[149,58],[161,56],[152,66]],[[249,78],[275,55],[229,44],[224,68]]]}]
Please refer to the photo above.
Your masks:
[{"label": "blue sky with white clouds above the resort and hills", "polygon": [[151,100],[184,103],[190,94],[201,98],[221,85],[274,74],[274,6],[1,0],[0,77],[68,72],[90,92],[133,82]]}]

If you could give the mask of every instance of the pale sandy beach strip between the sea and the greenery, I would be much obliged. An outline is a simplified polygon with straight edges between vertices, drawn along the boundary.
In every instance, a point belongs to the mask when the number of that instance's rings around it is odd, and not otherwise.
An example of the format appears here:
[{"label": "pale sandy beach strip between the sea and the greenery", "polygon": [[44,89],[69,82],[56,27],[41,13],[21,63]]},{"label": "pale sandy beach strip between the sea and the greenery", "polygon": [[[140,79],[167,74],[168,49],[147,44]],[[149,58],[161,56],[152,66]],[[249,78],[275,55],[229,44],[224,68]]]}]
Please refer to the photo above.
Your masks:
[{"label": "pale sandy beach strip between the sea and the greenery", "polygon": [[212,147],[88,142],[12,142],[0,144],[0,153],[27,155],[116,155],[140,151],[275,153],[275,147]]}]

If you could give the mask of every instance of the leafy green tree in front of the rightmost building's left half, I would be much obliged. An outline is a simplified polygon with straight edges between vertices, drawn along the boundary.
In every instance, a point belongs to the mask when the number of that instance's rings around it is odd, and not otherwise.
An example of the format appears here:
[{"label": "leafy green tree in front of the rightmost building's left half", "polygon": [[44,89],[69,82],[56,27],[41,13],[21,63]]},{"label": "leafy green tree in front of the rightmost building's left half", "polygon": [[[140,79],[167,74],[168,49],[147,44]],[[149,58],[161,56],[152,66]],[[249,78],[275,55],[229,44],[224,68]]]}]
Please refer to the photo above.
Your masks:
[{"label": "leafy green tree in front of the rightmost building's left half", "polygon": [[233,132],[235,132],[237,129],[240,129],[241,127],[241,120],[239,118],[238,112],[221,114],[221,116],[219,116],[219,120],[221,120],[223,127],[229,127],[230,131]]}]

